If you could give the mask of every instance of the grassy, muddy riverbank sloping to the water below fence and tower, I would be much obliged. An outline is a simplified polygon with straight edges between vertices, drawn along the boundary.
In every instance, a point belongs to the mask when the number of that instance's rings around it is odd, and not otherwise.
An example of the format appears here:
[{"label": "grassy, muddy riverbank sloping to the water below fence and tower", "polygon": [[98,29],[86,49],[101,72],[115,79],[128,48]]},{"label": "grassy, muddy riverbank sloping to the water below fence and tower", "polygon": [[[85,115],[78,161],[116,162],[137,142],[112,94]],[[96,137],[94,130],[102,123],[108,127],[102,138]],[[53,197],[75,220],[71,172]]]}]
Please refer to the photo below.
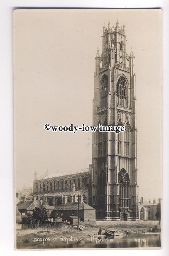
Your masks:
[{"label": "grassy, muddy riverbank sloping to the water below fence and tower", "polygon": [[[65,244],[76,244],[97,234],[99,229],[114,229],[116,231],[128,230],[130,233],[141,233],[152,230],[157,225],[155,221],[97,221],[96,225],[87,226],[85,230],[78,231],[77,227],[63,224],[62,230],[17,230],[17,248],[65,248]],[[45,240],[46,239],[46,240]],[[78,239],[78,240],[77,240]],[[72,241],[73,240],[73,241]]]}]

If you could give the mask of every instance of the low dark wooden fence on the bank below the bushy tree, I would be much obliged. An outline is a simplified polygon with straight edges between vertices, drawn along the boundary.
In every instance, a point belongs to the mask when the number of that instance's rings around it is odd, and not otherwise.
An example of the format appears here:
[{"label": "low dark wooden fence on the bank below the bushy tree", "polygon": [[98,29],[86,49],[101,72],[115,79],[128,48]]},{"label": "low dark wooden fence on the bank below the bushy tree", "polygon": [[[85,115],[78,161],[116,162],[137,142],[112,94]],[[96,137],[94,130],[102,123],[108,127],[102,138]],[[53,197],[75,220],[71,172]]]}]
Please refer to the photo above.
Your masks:
[{"label": "low dark wooden fence on the bank below the bushy tree", "polygon": [[62,229],[62,223],[43,223],[43,224],[22,224],[22,230],[56,230]]}]

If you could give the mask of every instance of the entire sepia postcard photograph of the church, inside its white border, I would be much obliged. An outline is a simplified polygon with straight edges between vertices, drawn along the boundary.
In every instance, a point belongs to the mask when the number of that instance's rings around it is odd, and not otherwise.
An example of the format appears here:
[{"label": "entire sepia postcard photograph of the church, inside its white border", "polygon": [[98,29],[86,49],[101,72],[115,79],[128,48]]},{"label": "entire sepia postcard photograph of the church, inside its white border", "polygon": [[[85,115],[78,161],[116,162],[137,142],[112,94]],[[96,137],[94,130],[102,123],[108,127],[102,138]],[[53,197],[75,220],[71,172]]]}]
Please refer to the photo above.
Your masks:
[{"label": "entire sepia postcard photograph of the church, inside its white border", "polygon": [[161,249],[162,10],[16,9],[15,249]]}]

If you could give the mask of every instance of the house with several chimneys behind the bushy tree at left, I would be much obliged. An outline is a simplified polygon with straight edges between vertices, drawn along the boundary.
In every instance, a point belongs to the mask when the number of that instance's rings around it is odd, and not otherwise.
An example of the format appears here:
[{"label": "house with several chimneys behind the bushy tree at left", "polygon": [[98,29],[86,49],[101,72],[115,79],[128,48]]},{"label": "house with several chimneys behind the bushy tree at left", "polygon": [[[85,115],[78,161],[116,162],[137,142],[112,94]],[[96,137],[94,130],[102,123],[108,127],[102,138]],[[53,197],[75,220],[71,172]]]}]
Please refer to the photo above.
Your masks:
[{"label": "house with several chimneys behind the bushy tree at left", "polygon": [[20,201],[17,204],[18,210],[21,213],[21,218],[23,215],[27,215],[28,213],[33,213],[33,210],[35,207],[38,207],[40,205],[44,205],[49,213],[50,216],[53,216],[53,210],[55,209],[54,206],[48,205],[47,198],[44,195],[43,200],[40,200],[39,195],[33,196],[33,199],[26,199],[26,196],[23,197],[23,201]]}]

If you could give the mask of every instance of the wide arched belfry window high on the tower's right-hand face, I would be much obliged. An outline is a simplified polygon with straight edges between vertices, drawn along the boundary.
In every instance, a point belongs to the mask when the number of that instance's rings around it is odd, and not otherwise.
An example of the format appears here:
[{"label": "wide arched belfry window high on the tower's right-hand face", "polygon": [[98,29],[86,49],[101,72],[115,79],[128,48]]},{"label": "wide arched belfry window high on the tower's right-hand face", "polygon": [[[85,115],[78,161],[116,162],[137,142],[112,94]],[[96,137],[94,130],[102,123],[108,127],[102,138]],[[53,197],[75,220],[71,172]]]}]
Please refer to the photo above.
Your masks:
[{"label": "wide arched belfry window high on the tower's right-hand face", "polygon": [[123,76],[117,82],[117,105],[127,108],[127,84]]}]

